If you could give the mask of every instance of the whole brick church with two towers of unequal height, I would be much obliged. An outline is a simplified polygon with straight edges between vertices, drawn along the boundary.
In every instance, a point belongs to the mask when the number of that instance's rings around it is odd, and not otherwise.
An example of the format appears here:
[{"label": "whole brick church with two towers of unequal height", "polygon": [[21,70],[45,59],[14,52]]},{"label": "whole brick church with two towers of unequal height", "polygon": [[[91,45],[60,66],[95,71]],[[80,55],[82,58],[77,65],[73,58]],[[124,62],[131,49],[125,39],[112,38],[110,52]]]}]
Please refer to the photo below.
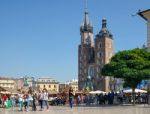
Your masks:
[{"label": "whole brick church with two towers of unequal height", "polygon": [[[91,77],[94,90],[110,90],[110,78],[100,75],[104,64],[113,55],[113,36],[107,29],[107,20],[102,19],[102,27],[96,36],[86,10],[80,26],[81,43],[78,47],[79,90],[83,90],[87,77]],[[94,38],[95,36],[95,38]]]}]

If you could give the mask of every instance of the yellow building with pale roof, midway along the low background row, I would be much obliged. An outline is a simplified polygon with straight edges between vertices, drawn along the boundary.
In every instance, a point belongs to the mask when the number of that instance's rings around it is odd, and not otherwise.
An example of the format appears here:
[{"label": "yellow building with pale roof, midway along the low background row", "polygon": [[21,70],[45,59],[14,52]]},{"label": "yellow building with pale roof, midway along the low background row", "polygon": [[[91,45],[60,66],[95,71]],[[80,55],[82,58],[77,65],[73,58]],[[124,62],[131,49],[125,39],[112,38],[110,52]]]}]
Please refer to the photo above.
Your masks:
[{"label": "yellow building with pale roof, midway along the low background row", "polygon": [[51,78],[38,78],[36,86],[40,89],[47,89],[48,91],[59,92],[59,82]]}]

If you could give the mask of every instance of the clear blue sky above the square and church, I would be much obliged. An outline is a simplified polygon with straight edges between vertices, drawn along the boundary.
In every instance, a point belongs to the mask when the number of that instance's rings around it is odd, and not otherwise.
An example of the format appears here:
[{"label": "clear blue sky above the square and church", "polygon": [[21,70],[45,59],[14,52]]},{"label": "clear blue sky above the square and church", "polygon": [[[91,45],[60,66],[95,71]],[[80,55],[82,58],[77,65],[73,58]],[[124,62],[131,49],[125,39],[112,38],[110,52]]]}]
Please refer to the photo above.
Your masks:
[{"label": "clear blue sky above the square and church", "polygon": [[[0,76],[77,78],[84,0],[0,0]],[[141,47],[149,0],[88,0],[94,35],[105,17],[114,51]]]}]

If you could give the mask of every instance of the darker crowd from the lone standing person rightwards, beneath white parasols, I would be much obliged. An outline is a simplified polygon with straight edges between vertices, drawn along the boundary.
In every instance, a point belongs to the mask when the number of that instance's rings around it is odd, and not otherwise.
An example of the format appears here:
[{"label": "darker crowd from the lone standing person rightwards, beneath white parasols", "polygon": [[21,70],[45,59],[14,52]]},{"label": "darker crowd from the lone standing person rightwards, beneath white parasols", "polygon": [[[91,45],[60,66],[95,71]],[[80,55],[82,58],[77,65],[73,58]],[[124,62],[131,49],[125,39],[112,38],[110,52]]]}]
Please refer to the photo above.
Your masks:
[{"label": "darker crowd from the lone standing person rightwards, beneath white parasols", "polygon": [[[119,105],[119,104],[131,104],[133,103],[133,98],[131,93],[115,93],[115,92],[109,92],[109,93],[101,93],[101,94],[75,94],[70,90],[69,92],[69,98],[64,97],[57,97],[54,99],[53,104],[55,105],[63,105],[67,104],[66,101],[68,101],[68,104],[70,104],[70,107],[72,108],[72,104],[75,105]],[[138,104],[147,104],[148,103],[148,94],[147,93],[137,93],[135,96],[135,102]]]}]

